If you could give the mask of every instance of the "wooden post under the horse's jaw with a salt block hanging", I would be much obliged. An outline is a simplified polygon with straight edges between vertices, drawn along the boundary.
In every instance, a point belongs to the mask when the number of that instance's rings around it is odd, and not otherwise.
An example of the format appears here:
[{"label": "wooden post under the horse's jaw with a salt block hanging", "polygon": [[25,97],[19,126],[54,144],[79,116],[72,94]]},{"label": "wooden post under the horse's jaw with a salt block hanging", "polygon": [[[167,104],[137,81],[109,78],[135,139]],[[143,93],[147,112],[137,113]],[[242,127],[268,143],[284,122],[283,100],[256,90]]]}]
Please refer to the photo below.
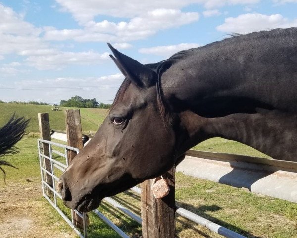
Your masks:
[{"label": "wooden post under the horse's jaw with a salt block hanging", "polygon": [[175,166],[165,175],[170,192],[155,199],[151,186],[154,179],[141,184],[141,216],[143,238],[175,238]]}]

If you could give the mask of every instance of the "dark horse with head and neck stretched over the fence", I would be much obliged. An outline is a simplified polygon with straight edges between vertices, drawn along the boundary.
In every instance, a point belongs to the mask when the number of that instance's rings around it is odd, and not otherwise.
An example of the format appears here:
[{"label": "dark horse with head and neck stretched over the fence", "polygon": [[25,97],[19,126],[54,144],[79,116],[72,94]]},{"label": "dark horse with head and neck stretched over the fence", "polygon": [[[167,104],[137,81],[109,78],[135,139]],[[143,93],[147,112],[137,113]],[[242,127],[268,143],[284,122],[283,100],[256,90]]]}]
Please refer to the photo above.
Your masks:
[{"label": "dark horse with head and neck stretched over the fence", "polygon": [[297,28],[236,35],[148,65],[109,47],[126,78],[61,176],[67,206],[90,211],[216,136],[297,161]]}]

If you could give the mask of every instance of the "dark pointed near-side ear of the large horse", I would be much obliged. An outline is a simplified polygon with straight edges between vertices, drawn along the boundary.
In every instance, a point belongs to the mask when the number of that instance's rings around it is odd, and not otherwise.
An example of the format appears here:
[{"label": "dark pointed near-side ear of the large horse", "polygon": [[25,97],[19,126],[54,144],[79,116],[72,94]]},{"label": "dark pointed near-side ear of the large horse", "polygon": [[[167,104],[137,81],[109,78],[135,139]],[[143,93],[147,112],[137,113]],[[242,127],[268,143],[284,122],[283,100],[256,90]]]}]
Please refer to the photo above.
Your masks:
[{"label": "dark pointed near-side ear of the large horse", "polygon": [[110,55],[111,59],[125,76],[129,76],[132,82],[141,88],[149,88],[155,85],[157,74],[152,69],[129,56],[122,54],[114,49],[109,43],[107,43],[107,45],[115,56],[114,58]]}]

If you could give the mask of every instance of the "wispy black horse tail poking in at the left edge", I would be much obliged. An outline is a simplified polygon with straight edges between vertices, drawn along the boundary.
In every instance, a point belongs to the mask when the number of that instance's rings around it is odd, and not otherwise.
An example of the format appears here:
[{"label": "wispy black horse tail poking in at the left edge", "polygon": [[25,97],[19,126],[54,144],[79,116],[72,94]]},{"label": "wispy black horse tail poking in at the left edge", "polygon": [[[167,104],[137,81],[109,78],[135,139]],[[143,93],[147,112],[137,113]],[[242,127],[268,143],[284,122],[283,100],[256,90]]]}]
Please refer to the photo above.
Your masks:
[{"label": "wispy black horse tail poking in at the left edge", "polygon": [[[29,119],[16,117],[13,114],[9,121],[0,128],[0,157],[18,153],[18,149],[14,145],[24,136],[28,123]],[[0,170],[4,173],[5,179],[6,173],[1,167],[3,165],[14,166],[5,160],[0,160]]]}]

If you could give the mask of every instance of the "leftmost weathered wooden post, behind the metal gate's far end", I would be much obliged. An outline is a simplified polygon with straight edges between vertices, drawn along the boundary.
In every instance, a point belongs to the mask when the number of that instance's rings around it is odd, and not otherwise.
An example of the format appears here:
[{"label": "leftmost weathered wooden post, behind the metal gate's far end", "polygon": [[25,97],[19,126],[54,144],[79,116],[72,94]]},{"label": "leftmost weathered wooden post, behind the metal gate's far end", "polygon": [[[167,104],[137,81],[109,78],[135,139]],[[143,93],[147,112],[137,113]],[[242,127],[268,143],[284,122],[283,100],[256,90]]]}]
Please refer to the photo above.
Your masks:
[{"label": "leftmost weathered wooden post, behind the metal gate's far end", "polygon": [[[43,140],[50,141],[49,114],[48,113],[39,113],[38,114],[38,123],[39,123],[40,138]],[[44,155],[49,157],[49,144],[43,143],[42,149],[43,149]],[[44,158],[43,163],[44,163],[44,168],[47,171],[49,171],[50,173],[52,173],[50,161],[47,158]],[[48,175],[47,173],[44,173],[44,178],[46,179],[47,184],[49,184],[49,186],[53,187],[52,177],[50,175]],[[53,197],[53,192],[49,188],[46,188],[45,192],[49,197]]]}]

